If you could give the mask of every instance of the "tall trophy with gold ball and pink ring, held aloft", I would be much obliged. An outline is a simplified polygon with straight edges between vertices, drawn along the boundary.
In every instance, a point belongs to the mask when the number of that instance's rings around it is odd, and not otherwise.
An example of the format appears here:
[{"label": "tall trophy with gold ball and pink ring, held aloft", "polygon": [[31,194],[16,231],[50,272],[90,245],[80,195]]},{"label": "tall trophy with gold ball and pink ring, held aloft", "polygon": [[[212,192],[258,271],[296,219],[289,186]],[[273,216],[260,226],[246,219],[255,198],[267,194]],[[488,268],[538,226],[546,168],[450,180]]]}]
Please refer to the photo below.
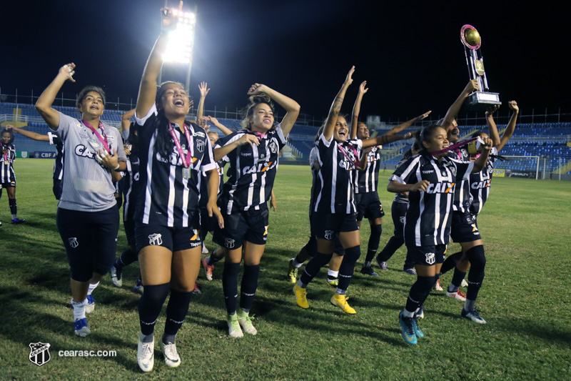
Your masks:
[{"label": "tall trophy with gold ball and pink ring, held aloft", "polygon": [[466,109],[475,111],[486,111],[488,107],[500,102],[500,94],[490,92],[487,86],[486,72],[484,70],[484,59],[479,51],[482,39],[477,30],[466,24],[460,29],[460,40],[464,45],[464,54],[466,56],[466,64],[468,64],[468,73],[470,79],[477,79],[480,85],[480,91],[474,91],[465,100]]}]

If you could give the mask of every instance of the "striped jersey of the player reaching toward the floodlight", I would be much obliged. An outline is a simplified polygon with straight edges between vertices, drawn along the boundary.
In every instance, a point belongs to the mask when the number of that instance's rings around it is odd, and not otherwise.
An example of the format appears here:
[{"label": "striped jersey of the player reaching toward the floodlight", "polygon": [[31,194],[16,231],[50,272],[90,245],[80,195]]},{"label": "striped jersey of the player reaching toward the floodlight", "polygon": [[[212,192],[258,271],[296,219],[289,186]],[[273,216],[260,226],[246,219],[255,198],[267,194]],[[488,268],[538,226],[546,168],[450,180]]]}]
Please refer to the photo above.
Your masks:
[{"label": "striped jersey of the player reaching toward the floodlight", "polygon": [[[183,158],[172,142],[170,157],[163,158],[156,152],[158,129],[168,129],[168,122],[159,120],[155,105],[143,118],[136,115],[138,130],[138,158],[140,193],[137,197],[135,219],[143,224],[168,227],[191,226],[191,214],[198,212],[201,198],[201,172],[216,169],[212,147],[206,131],[197,124],[188,123],[190,142],[173,124],[174,134],[181,144],[183,154],[190,152],[190,178],[183,175]],[[205,194],[204,197],[207,197]]]}]

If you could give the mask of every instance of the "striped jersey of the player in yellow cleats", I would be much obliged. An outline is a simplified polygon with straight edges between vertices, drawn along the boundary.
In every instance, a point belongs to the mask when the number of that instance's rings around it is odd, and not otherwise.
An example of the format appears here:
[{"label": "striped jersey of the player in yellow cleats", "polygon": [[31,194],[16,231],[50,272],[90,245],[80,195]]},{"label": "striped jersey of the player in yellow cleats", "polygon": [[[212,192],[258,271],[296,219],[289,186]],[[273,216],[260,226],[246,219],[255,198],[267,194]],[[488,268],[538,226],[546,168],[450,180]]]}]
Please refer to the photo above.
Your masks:
[{"label": "striped jersey of the player in yellow cleats", "polygon": [[315,142],[320,168],[313,187],[313,211],[350,214],[357,212],[354,200],[354,172],[363,141],[329,141],[323,134]]}]

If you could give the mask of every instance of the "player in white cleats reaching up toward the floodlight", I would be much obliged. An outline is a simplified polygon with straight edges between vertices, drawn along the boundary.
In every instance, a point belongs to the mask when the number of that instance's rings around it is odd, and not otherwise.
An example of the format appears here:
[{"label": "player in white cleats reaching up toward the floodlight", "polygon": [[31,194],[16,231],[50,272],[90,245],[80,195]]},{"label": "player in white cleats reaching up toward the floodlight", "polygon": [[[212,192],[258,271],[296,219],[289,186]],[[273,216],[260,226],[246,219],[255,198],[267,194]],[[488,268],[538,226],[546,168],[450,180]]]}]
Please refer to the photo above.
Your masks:
[{"label": "player in white cleats reaching up toward the floodlight", "polygon": [[[154,328],[169,291],[161,349],[167,366],[181,365],[175,339],[200,269],[201,197],[208,197],[209,214],[218,215],[223,224],[216,207],[218,174],[206,132],[186,122],[191,102],[181,84],[156,86],[168,33],[176,28],[176,12],[161,10],[162,31],[143,71],[135,113],[141,183],[135,240],[145,289],[138,305],[141,333],[137,362],[143,372],[153,369]],[[201,171],[208,172],[208,194],[200,193]]]}]

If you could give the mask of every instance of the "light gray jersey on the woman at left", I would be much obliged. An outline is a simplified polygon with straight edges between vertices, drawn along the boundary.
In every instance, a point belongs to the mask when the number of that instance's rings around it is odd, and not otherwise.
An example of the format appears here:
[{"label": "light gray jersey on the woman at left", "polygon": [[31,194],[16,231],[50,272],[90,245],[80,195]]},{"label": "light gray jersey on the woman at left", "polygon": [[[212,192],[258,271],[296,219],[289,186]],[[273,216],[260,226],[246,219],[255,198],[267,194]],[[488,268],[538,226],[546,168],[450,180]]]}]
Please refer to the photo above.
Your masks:
[{"label": "light gray jersey on the woman at left", "polygon": [[[106,137],[109,149],[116,152],[119,161],[126,162],[118,130],[108,124],[97,130],[101,137]],[[113,207],[116,204],[115,186],[111,181],[111,170],[95,159],[97,150],[103,149],[96,135],[83,122],[61,112],[56,135],[64,142],[64,190],[58,207],[82,212],[99,212]]]}]

